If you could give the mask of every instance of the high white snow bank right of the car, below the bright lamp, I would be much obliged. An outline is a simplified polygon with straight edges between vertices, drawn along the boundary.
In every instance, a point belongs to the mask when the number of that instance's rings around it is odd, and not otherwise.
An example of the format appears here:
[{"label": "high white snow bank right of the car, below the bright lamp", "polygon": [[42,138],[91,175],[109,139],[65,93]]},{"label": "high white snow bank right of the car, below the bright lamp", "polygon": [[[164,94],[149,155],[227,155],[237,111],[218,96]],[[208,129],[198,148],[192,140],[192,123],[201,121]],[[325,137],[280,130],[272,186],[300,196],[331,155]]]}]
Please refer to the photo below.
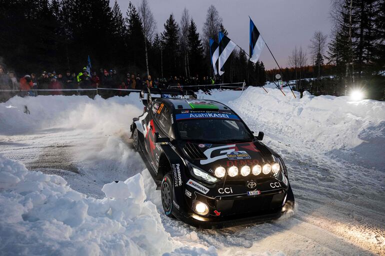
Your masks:
[{"label": "high white snow bank right of the car, below the bright lamp", "polygon": [[[312,96],[299,93],[294,99],[289,88],[286,96],[277,89],[249,87],[231,105],[247,116],[252,124],[265,126],[298,138],[298,142],[315,142],[319,150],[330,155],[354,154],[353,161],[383,169],[385,150],[385,102],[375,100],[350,101],[349,97]],[[257,131],[255,131],[257,132]],[[306,143],[304,143],[306,145]],[[344,152],[340,151],[343,150]]]}]

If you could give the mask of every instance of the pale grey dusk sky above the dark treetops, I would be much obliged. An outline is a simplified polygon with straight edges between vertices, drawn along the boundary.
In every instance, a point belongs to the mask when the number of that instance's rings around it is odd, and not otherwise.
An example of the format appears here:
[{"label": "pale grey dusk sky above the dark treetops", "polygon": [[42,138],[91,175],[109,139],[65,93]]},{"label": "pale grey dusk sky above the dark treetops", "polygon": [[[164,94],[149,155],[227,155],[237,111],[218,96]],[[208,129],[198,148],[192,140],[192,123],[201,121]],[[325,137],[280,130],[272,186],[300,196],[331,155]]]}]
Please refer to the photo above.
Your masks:
[{"label": "pale grey dusk sky above the dark treetops", "polygon": [[[118,0],[125,15],[128,0]],[[138,6],[140,0],[131,0]],[[269,45],[281,67],[287,66],[287,56],[295,45],[308,51],[309,40],[315,30],[330,33],[329,0],[148,0],[156,19],[156,30],[163,31],[163,24],[170,13],[180,21],[184,7],[195,20],[198,31],[202,27],[207,8],[213,4],[223,18],[228,37],[248,53],[248,16]],[[111,0],[111,5],[113,1]],[[266,69],[276,67],[267,48],[259,60]]]}]

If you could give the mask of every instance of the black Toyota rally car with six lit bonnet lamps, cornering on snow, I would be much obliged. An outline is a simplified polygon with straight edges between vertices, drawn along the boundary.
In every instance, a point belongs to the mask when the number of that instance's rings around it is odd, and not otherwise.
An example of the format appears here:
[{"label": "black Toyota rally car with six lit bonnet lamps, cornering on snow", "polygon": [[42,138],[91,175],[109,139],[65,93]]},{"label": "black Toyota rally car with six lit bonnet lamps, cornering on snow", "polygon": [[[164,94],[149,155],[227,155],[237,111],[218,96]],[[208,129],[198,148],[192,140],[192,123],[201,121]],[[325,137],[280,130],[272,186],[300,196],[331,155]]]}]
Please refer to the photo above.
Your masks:
[{"label": "black Toyota rally car with six lit bonnet lamps, cornering on snow", "polygon": [[223,228],[275,219],[293,207],[282,159],[229,107],[192,91],[152,88],[140,98],[145,107],[131,124],[132,144],[167,216]]}]

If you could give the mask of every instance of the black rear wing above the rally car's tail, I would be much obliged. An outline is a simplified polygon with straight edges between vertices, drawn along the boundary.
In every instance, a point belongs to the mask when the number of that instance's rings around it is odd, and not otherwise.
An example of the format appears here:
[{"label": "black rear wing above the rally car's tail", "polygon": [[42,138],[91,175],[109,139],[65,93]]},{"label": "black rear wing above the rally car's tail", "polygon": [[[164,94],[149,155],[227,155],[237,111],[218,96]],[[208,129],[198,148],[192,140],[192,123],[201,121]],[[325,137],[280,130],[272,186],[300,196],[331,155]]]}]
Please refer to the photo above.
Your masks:
[{"label": "black rear wing above the rally car's tail", "polygon": [[[147,94],[147,95],[145,95]],[[166,95],[181,95],[182,97],[188,96],[189,99],[196,99],[196,94],[191,90],[182,89],[160,89],[160,88],[144,88],[139,93],[139,98],[144,106],[147,106],[156,98],[167,98]],[[146,96],[146,98],[144,98]]]}]

